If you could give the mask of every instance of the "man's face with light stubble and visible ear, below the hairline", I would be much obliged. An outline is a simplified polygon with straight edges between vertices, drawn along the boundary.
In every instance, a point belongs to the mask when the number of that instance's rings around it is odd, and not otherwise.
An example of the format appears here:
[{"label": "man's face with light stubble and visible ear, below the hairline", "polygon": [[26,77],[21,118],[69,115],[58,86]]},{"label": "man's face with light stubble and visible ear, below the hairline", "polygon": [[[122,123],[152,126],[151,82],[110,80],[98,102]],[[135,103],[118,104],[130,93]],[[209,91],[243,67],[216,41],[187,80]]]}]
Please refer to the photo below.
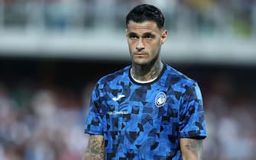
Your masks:
[{"label": "man's face with light stubble and visible ear, below the hairline", "polygon": [[132,62],[147,65],[159,58],[160,46],[167,38],[166,30],[160,30],[154,21],[129,21],[126,32]]}]

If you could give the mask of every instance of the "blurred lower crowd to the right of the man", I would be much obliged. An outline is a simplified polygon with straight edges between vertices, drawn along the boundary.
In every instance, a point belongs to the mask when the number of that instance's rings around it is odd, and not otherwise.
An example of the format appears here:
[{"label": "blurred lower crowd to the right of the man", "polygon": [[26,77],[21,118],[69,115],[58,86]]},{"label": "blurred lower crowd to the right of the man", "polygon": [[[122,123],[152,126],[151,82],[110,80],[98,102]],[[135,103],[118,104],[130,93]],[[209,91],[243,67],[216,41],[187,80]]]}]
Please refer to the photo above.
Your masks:
[{"label": "blurred lower crowd to the right of the man", "polygon": [[256,159],[255,86],[248,80],[238,82],[237,76],[213,75],[203,87],[209,134],[203,159]]}]

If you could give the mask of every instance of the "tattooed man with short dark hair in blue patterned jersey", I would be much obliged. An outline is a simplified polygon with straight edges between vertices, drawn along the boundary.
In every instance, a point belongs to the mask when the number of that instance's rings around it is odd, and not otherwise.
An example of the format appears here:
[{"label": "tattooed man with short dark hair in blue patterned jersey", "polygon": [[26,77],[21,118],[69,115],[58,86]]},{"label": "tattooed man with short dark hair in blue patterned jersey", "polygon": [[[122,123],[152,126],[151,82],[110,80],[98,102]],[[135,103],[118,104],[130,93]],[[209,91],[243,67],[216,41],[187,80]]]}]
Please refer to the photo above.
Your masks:
[{"label": "tattooed man with short dark hair in blue patterned jersey", "polygon": [[126,17],[131,66],[99,79],[84,159],[202,159],[206,124],[195,81],[160,59],[164,16],[138,5]]}]

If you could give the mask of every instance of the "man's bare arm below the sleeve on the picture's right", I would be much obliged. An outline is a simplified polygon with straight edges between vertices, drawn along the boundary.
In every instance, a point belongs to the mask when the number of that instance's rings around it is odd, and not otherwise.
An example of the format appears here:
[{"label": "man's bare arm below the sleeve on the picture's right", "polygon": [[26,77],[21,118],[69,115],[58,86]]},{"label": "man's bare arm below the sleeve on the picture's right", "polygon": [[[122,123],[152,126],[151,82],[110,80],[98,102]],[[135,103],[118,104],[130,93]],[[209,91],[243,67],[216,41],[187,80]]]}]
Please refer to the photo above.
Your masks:
[{"label": "man's bare arm below the sleeve on the picture's right", "polygon": [[180,149],[183,160],[201,160],[203,139],[180,139]]}]

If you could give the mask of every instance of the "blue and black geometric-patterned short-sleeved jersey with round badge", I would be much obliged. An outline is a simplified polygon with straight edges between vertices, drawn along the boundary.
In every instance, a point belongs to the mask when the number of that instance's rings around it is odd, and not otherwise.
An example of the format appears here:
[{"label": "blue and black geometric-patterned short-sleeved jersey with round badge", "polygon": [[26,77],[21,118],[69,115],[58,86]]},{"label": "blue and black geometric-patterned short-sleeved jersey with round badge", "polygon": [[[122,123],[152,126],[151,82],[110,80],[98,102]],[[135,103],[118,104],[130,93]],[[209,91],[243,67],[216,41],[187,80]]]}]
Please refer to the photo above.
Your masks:
[{"label": "blue and black geometric-patterned short-sleeved jersey with round badge", "polygon": [[206,137],[198,84],[167,64],[148,83],[134,82],[130,69],[96,83],[85,133],[104,136],[105,159],[182,159],[180,138]]}]

